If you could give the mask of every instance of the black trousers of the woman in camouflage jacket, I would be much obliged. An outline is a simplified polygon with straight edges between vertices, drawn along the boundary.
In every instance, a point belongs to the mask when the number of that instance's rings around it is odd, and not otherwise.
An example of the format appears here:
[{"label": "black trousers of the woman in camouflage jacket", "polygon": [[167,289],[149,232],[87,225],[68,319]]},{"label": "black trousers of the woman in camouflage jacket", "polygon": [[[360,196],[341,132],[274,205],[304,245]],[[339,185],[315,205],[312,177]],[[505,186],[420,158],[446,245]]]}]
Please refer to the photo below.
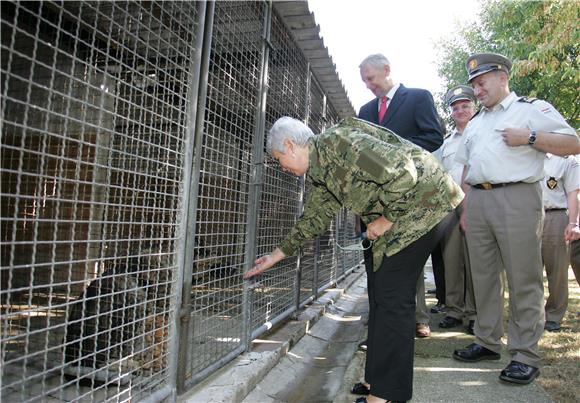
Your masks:
[{"label": "black trousers of the woman in camouflage jacket", "polygon": [[439,240],[436,228],[399,253],[385,256],[376,272],[372,254],[365,253],[369,295],[365,380],[373,396],[406,401],[413,395],[417,279]]}]

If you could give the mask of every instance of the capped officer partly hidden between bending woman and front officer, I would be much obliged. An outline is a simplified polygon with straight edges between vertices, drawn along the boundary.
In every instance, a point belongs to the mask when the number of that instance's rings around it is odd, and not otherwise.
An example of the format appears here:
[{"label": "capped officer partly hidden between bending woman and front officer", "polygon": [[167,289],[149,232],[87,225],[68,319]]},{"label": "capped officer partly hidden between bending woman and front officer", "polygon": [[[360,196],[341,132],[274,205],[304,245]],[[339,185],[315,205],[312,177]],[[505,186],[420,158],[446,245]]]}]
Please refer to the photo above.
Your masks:
[{"label": "capped officer partly hidden between bending woman and front officer", "polygon": [[[451,109],[455,130],[434,155],[460,185],[463,165],[455,162],[455,153],[462,140],[463,131],[475,114],[475,95],[471,87],[459,85],[445,94],[445,102]],[[447,315],[439,322],[441,328],[461,325],[467,319],[468,331],[473,334],[475,324],[475,298],[471,280],[471,267],[465,235],[459,228],[461,207],[447,216],[439,226],[443,230],[443,261],[445,264],[445,302]]]}]

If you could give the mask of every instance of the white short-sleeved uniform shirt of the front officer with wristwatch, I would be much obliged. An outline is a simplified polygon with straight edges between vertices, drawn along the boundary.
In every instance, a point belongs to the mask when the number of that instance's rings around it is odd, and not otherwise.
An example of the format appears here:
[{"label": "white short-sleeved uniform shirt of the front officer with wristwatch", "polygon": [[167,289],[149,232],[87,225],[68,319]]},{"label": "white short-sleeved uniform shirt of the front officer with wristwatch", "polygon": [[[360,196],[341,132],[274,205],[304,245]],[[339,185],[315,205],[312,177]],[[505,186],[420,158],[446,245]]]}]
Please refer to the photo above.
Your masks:
[{"label": "white short-sleeved uniform shirt of the front officer with wristwatch", "polygon": [[467,165],[466,183],[534,183],[544,177],[544,153],[527,145],[505,144],[499,130],[508,127],[576,136],[548,102],[530,102],[512,92],[492,109],[483,108],[467,124],[455,156]]}]

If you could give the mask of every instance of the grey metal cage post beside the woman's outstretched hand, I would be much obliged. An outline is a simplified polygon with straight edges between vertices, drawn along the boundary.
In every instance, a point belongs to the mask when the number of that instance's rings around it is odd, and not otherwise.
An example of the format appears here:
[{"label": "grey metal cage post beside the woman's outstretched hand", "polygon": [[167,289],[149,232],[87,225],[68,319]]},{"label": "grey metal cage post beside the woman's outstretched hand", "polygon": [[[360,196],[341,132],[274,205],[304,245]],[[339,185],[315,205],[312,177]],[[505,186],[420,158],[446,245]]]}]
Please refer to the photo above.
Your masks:
[{"label": "grey metal cage post beside the woman's outstretched hand", "polygon": [[[253,139],[252,172],[250,175],[250,192],[248,195],[248,238],[246,242],[246,271],[249,270],[256,259],[257,226],[262,194],[262,174],[264,160],[264,131],[266,126],[266,97],[268,93],[268,63],[270,59],[270,34],[272,25],[272,2],[265,3],[264,30],[262,34],[262,60],[260,67],[260,84],[258,88],[258,108],[256,109],[256,128]],[[252,342],[252,290],[255,288],[254,280],[244,281],[242,297],[244,309],[244,334],[242,344],[246,351],[251,348]]]}]

